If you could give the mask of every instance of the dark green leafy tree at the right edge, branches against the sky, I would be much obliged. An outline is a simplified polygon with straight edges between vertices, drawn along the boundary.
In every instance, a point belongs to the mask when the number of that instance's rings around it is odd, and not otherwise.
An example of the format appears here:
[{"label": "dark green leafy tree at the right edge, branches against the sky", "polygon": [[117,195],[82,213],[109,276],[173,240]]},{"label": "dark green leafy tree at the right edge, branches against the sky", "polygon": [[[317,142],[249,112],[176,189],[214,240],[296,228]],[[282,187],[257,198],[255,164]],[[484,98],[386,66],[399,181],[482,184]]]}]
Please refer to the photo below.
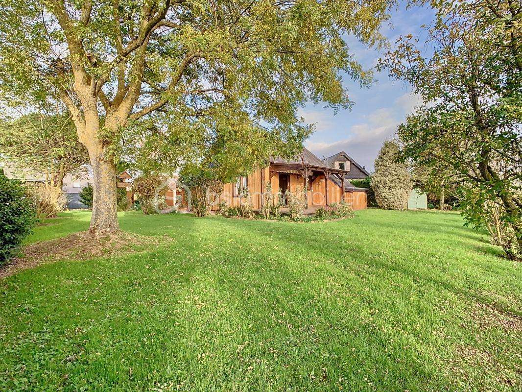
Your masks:
[{"label": "dark green leafy tree at the right edge, branches against the sky", "polygon": [[[443,2],[426,28],[426,57],[401,37],[380,67],[406,80],[424,105],[399,126],[404,158],[447,176],[468,222],[486,202],[502,206],[522,247],[522,4],[511,0]],[[443,179],[444,180],[444,179]]]}]

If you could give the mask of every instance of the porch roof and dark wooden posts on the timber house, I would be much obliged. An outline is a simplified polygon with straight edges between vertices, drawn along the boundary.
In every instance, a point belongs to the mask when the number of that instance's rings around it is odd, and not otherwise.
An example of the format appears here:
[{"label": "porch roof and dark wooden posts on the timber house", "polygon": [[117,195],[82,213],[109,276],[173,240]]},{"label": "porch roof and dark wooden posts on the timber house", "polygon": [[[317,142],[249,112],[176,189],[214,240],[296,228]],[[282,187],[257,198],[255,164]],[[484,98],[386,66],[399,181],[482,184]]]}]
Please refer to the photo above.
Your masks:
[{"label": "porch roof and dark wooden posts on the timber house", "polygon": [[[282,158],[270,159],[270,178],[274,177],[276,173],[290,173],[300,174],[304,179],[308,180],[308,186],[314,182],[314,180],[324,175],[327,180],[332,180],[337,186],[340,186],[342,190],[342,197],[345,196],[345,174],[347,170],[335,169],[333,167],[325,166],[324,162],[317,158],[314,154],[308,151],[306,148],[303,152],[296,157],[295,160],[285,160]],[[263,172],[262,172],[263,173]],[[306,182],[306,181],[305,181]],[[262,183],[264,179],[262,178]],[[306,205],[308,205],[308,195],[305,193]],[[328,182],[325,186],[325,200],[328,205]]]}]

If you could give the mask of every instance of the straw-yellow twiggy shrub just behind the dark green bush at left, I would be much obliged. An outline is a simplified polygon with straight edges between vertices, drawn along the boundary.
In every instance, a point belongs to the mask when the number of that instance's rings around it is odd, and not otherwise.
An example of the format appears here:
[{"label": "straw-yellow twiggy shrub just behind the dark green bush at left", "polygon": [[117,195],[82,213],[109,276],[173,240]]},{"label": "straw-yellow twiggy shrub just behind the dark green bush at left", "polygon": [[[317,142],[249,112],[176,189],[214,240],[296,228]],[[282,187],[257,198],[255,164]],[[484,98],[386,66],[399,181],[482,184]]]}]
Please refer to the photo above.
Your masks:
[{"label": "straw-yellow twiggy shrub just behind the dark green bush at left", "polygon": [[50,184],[36,184],[27,187],[33,200],[36,217],[40,223],[47,218],[54,218],[67,206],[67,196],[58,187]]}]

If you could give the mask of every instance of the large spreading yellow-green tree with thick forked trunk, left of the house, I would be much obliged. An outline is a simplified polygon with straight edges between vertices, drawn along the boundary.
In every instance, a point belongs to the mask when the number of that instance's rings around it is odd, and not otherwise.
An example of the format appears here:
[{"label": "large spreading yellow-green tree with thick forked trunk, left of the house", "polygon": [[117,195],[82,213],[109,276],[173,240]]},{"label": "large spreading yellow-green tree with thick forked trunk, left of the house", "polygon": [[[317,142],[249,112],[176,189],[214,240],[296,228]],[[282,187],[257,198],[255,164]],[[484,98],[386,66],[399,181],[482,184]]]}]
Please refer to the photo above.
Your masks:
[{"label": "large spreading yellow-green tree with thick forked trunk, left of the house", "polygon": [[255,153],[260,142],[265,158],[294,153],[310,132],[299,106],[349,107],[340,71],[370,83],[342,34],[382,43],[390,3],[3,2],[0,94],[9,105],[64,103],[93,167],[91,229],[114,230],[114,160],[129,125],[139,122],[167,145],[207,148],[218,140],[228,156]]}]

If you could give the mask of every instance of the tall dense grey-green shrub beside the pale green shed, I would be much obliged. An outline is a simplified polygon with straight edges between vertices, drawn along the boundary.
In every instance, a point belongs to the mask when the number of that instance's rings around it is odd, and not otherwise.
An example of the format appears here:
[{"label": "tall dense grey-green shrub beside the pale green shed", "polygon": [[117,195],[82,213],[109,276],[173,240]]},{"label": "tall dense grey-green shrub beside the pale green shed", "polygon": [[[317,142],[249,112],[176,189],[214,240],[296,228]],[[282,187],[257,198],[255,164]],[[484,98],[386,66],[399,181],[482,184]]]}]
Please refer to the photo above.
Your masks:
[{"label": "tall dense grey-green shrub beside the pale green shed", "polygon": [[413,183],[406,165],[398,163],[399,145],[386,141],[375,159],[371,186],[375,200],[385,210],[406,210]]}]

